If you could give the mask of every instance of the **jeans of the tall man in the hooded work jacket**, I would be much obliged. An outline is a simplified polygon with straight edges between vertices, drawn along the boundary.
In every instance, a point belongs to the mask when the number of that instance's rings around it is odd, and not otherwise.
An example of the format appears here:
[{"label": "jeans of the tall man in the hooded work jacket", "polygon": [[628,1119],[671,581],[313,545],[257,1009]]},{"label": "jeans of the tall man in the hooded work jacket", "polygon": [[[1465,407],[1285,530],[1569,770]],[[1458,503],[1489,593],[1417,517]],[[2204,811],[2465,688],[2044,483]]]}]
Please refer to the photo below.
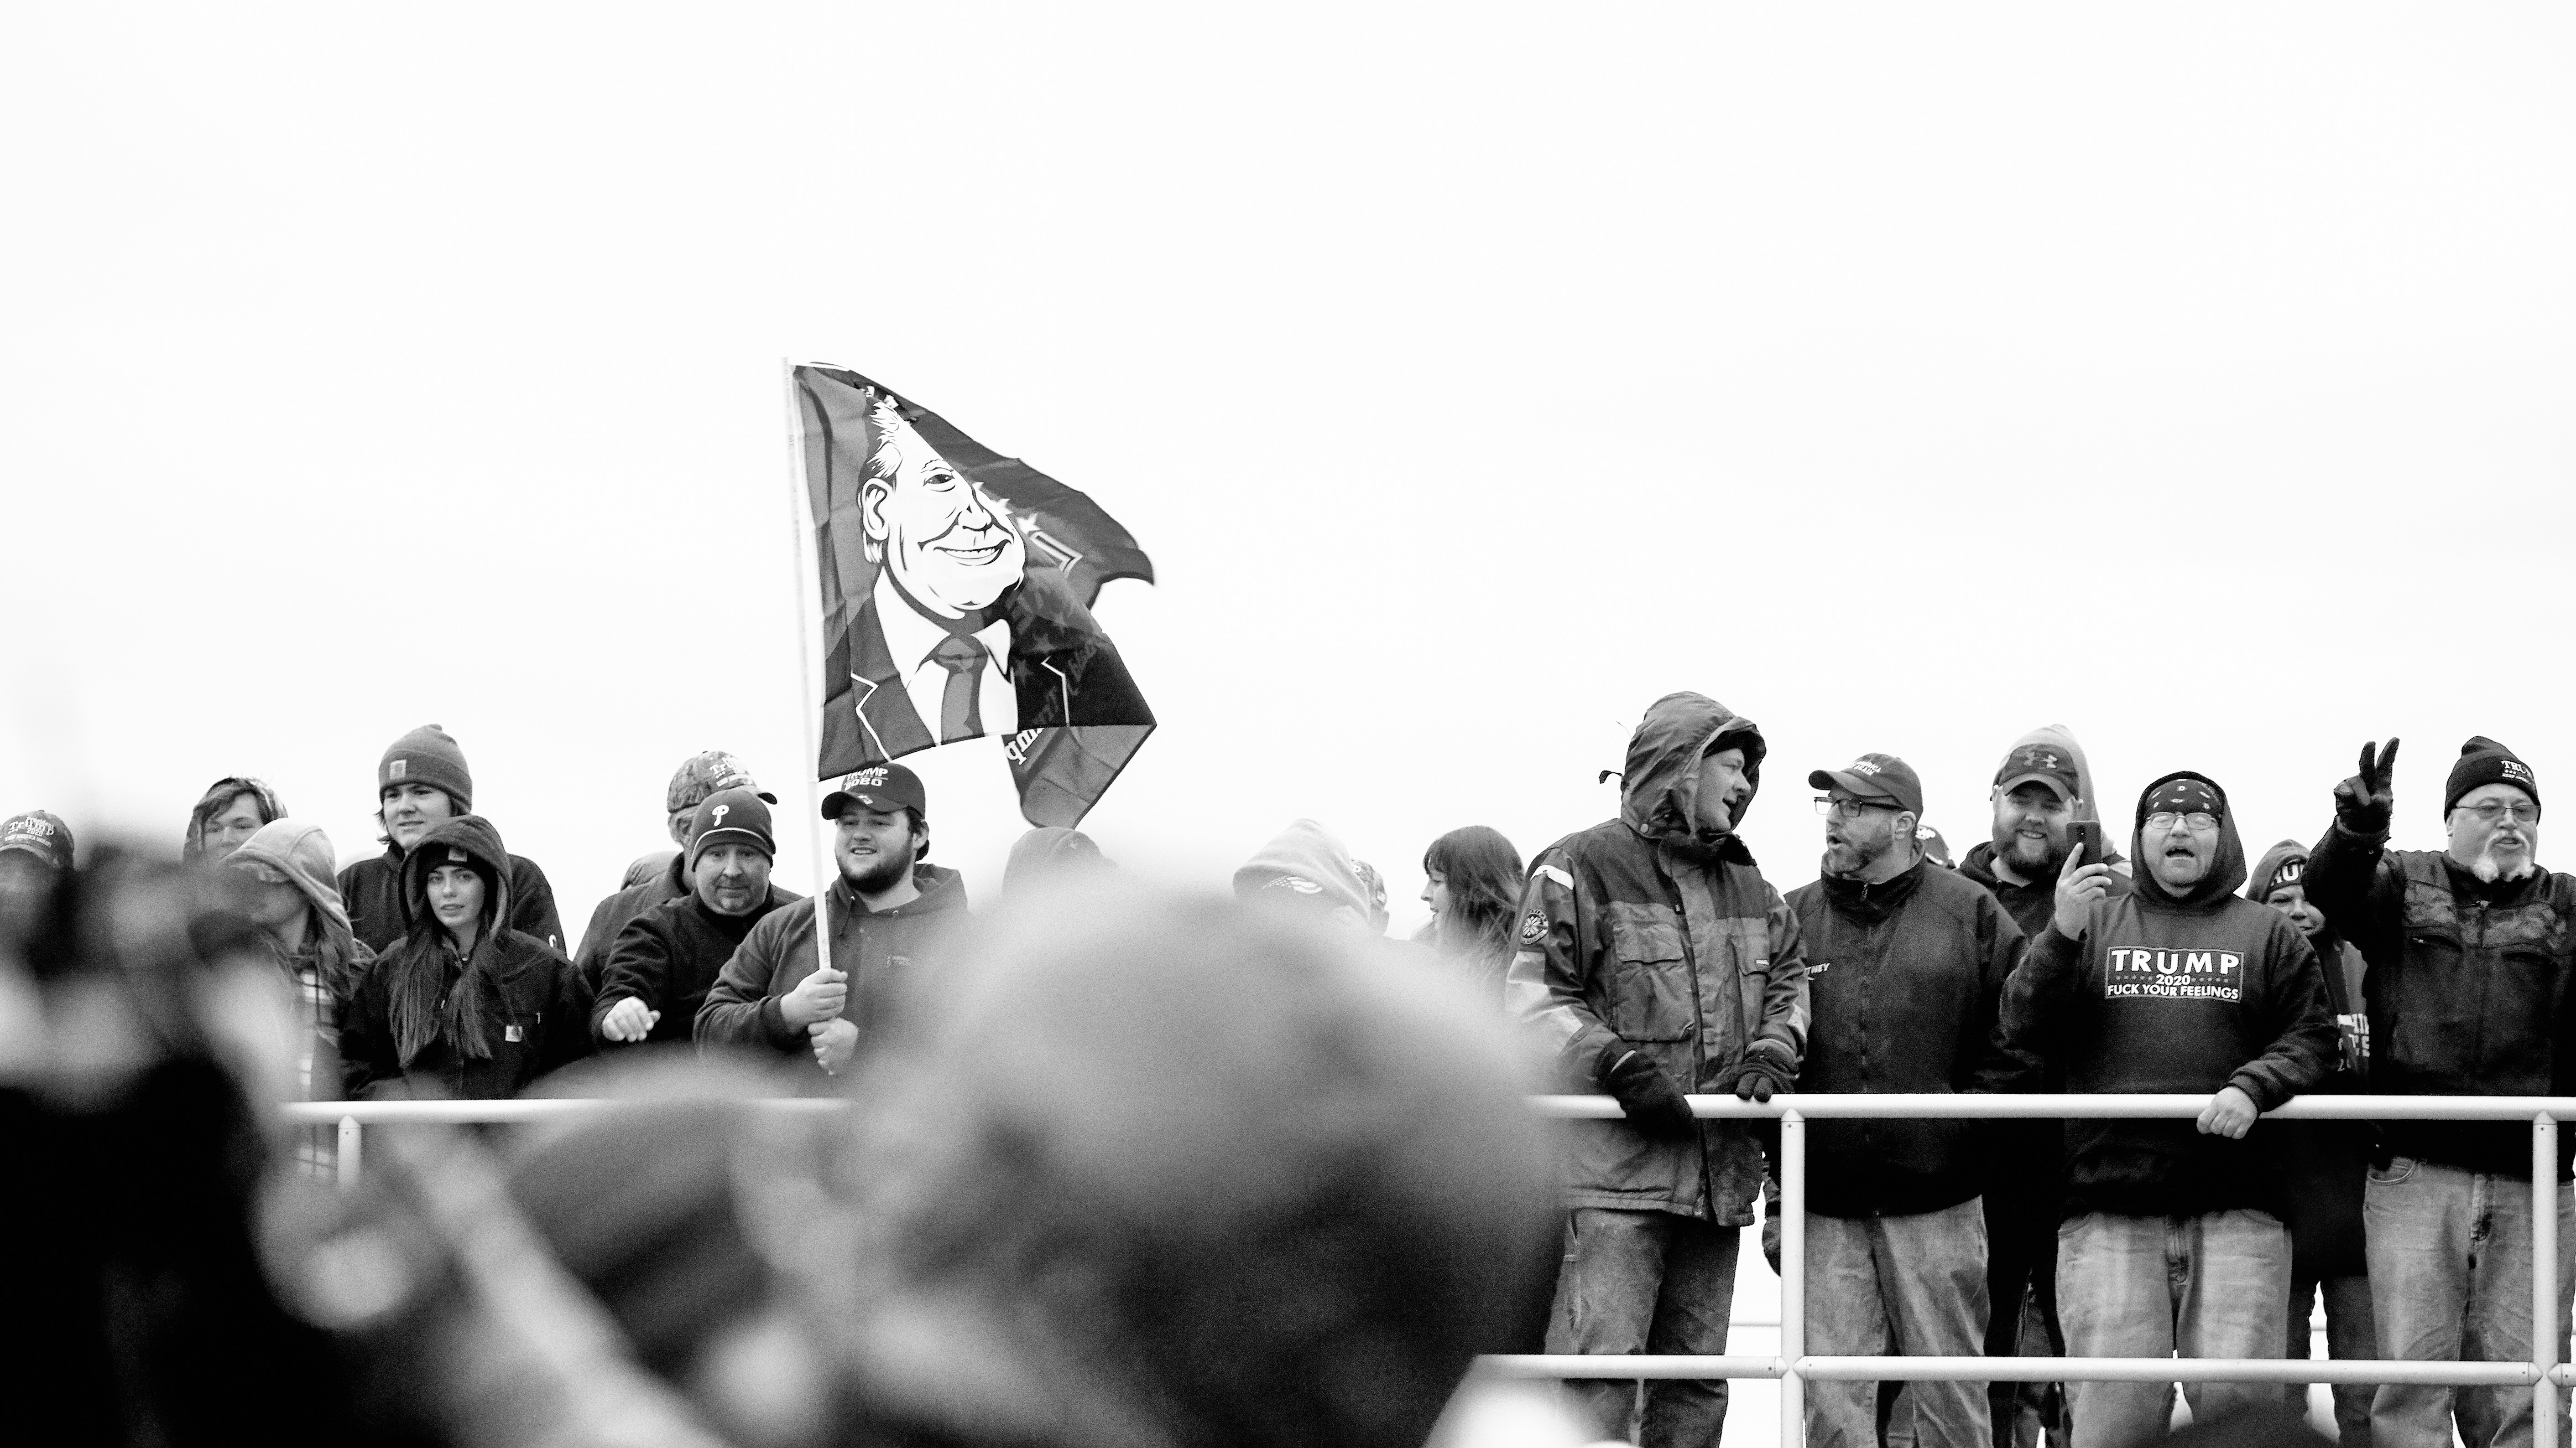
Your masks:
[{"label": "jeans of the tall man in the hooded work jacket", "polygon": [[[1739,1227],[1669,1211],[1577,1206],[1556,1273],[1551,1353],[1726,1353],[1736,1307]],[[1718,1448],[1726,1379],[1646,1381],[1643,1422],[1631,1433],[1636,1381],[1566,1384],[1566,1407],[1600,1438],[1643,1448]]]}]

